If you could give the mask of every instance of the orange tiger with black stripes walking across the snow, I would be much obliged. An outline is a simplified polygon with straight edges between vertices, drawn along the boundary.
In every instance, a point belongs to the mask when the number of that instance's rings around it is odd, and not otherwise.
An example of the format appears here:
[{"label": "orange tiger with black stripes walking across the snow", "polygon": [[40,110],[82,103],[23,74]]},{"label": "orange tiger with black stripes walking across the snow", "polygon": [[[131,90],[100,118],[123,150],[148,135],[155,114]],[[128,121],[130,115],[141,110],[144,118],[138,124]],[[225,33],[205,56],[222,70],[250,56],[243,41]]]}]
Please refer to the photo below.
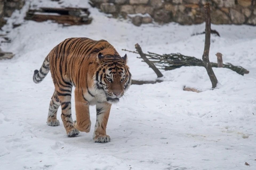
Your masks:
[{"label": "orange tiger with black stripes walking across the snow", "polygon": [[[57,110],[61,106],[61,119],[67,136],[88,133],[91,129],[89,106],[96,105],[93,141],[110,142],[106,126],[111,105],[119,102],[132,81],[127,55],[121,57],[106,40],[67,38],[49,52],[39,71],[34,70],[34,83],[42,82],[49,71],[55,89],[49,105],[47,125],[60,125]],[[71,116],[73,87],[75,121]]]}]

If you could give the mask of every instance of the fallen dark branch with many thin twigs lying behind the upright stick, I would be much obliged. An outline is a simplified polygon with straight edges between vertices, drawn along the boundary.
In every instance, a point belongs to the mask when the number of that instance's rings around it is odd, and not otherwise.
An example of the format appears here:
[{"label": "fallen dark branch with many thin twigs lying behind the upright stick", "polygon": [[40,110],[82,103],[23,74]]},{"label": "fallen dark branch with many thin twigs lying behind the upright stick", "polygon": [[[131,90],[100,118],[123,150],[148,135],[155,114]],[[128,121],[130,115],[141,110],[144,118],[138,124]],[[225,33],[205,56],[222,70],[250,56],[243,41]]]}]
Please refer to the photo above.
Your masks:
[{"label": "fallen dark branch with many thin twigs lying behind the upright stick", "polygon": [[[135,52],[135,51],[130,51],[130,50],[126,50],[126,49],[122,49],[122,50],[138,54],[138,52]],[[152,52],[148,52],[148,53],[149,54],[145,54],[145,53],[144,54],[148,57],[148,59],[154,65],[156,65],[158,68],[160,67],[159,69],[173,70],[176,68],[180,68],[182,66],[202,66],[202,67],[204,67],[203,61],[201,59],[197,59],[197,58],[191,57],[191,56],[185,56],[180,53],[171,53],[171,54],[162,54],[162,55],[152,53]],[[138,58],[140,58],[140,57],[138,57]],[[211,66],[218,67],[218,64],[211,62]],[[243,68],[241,66],[235,66],[230,63],[223,64],[223,67],[231,69],[232,71],[237,72],[238,74],[241,74],[241,75],[249,73],[249,71],[246,70],[245,68]]]}]

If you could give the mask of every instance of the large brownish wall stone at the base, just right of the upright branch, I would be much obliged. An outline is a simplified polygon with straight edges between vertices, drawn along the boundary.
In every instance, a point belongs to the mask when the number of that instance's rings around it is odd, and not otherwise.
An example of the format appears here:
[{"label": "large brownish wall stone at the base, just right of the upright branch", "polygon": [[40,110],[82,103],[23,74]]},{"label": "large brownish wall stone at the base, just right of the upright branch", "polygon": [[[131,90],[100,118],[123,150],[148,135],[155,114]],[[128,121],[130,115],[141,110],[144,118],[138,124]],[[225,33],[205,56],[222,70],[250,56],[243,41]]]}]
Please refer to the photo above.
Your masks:
[{"label": "large brownish wall stone at the base, just right of the upright branch", "polygon": [[211,12],[211,22],[213,24],[230,24],[229,17],[221,10],[215,9]]}]

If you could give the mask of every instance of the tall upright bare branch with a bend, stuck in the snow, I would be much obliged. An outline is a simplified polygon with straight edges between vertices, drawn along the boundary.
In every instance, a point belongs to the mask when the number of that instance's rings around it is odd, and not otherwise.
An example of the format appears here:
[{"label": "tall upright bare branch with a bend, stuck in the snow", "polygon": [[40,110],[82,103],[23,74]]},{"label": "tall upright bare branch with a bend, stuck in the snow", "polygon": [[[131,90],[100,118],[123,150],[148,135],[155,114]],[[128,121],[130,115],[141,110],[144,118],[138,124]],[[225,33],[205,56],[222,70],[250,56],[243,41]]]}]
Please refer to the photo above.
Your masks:
[{"label": "tall upright bare branch with a bend, stuck in the snow", "polygon": [[217,84],[218,80],[213,72],[213,68],[211,67],[211,63],[209,60],[209,51],[210,51],[210,40],[211,40],[211,14],[210,14],[210,3],[205,3],[205,49],[203,52],[203,63],[204,67],[210,77],[212,88],[214,89]]}]

